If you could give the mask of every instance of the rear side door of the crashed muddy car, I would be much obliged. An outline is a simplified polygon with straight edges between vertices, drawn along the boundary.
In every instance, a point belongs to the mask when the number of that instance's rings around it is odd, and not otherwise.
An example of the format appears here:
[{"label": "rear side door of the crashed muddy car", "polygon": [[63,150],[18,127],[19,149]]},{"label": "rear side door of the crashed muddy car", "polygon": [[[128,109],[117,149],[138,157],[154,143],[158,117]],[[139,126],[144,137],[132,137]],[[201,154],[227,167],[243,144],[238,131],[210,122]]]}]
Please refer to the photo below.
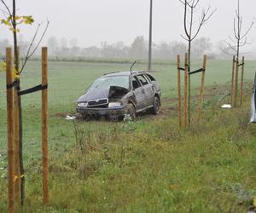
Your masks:
[{"label": "rear side door of the crashed muddy car", "polygon": [[144,107],[149,107],[153,105],[154,99],[154,87],[151,82],[149,82],[148,78],[146,78],[143,74],[137,75],[140,83],[143,84],[143,90],[146,96]]}]

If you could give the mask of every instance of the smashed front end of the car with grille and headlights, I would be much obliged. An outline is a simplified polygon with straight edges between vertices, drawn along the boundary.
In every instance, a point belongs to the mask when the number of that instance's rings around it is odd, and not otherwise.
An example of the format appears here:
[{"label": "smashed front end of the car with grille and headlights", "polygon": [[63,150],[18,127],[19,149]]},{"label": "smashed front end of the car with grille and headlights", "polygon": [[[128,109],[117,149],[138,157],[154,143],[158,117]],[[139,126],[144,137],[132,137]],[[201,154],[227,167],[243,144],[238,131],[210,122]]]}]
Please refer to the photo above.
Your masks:
[{"label": "smashed front end of the car with grille and headlights", "polygon": [[[79,98],[77,112],[83,118],[88,117],[108,117],[118,119],[126,114],[126,99],[129,90],[119,86],[110,86],[108,92],[90,90],[91,94],[97,94],[96,99],[91,99],[92,95],[85,93]],[[102,95],[99,95],[102,94]]]}]

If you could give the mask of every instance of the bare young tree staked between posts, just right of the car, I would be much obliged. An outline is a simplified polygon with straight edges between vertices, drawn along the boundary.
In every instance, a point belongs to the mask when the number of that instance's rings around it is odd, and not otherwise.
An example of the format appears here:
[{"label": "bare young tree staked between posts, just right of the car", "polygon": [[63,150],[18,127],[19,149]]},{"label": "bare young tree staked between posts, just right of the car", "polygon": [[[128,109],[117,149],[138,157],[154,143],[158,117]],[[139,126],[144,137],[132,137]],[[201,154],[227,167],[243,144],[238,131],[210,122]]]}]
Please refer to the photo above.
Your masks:
[{"label": "bare young tree staked between posts, just right of the car", "polygon": [[[189,56],[189,64],[188,69],[191,72],[191,43],[198,36],[199,32],[201,32],[201,27],[207,23],[207,21],[212,17],[212,14],[217,9],[211,9],[208,7],[207,9],[202,9],[201,17],[197,26],[195,27],[195,13],[197,11],[200,0],[179,0],[183,4],[184,8],[184,31],[185,35],[181,35],[184,40],[188,42],[188,56]],[[190,102],[191,102],[191,83],[190,83],[190,75],[189,75],[189,106],[188,106],[188,117],[190,124]]]}]

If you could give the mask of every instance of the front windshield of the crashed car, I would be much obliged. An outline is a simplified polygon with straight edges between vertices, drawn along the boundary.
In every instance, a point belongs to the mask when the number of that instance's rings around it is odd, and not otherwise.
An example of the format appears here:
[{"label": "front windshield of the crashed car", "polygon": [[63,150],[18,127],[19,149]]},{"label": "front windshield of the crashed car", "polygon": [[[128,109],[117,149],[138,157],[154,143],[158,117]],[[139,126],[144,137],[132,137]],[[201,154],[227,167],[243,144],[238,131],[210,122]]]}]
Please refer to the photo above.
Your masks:
[{"label": "front windshield of the crashed car", "polygon": [[125,89],[130,88],[129,77],[128,76],[111,76],[111,77],[101,77],[96,79],[94,83],[90,86],[90,89],[109,89],[110,86],[123,87]]}]

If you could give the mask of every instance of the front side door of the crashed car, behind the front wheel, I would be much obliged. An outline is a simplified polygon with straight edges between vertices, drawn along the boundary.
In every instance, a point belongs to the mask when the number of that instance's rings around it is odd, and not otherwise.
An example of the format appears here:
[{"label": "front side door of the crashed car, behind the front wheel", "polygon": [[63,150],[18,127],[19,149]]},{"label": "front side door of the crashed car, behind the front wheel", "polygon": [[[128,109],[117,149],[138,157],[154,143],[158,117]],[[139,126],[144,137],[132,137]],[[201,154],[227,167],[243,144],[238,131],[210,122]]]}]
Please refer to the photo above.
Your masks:
[{"label": "front side door of the crashed car, behind the front wheel", "polygon": [[140,111],[146,106],[146,95],[143,89],[143,84],[139,83],[138,79],[135,77],[131,77],[131,86],[133,90],[133,94],[135,96],[135,100],[137,102],[136,109]]}]

